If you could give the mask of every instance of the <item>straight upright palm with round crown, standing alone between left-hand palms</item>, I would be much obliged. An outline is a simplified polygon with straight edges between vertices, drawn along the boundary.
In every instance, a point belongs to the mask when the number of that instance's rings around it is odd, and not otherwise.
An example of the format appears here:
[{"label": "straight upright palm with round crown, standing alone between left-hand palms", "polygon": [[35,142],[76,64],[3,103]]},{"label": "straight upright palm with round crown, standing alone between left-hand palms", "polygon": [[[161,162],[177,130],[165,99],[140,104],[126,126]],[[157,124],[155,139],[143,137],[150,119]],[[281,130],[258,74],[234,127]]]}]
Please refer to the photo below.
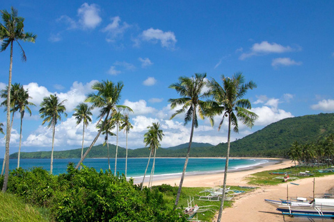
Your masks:
[{"label": "straight upright palm with round crown, standing alone between left-hand palms", "polygon": [[54,163],[54,132],[56,130],[56,125],[58,120],[61,121],[61,114],[64,114],[67,117],[65,112],[66,108],[63,104],[66,100],[63,100],[59,103],[58,96],[56,94],[50,95],[49,97],[44,97],[42,103],[40,103],[40,118],[44,118],[42,125],[46,122],[47,128],[52,127],[52,149],[51,149],[51,165],[50,173],[52,174],[53,163]]}]

